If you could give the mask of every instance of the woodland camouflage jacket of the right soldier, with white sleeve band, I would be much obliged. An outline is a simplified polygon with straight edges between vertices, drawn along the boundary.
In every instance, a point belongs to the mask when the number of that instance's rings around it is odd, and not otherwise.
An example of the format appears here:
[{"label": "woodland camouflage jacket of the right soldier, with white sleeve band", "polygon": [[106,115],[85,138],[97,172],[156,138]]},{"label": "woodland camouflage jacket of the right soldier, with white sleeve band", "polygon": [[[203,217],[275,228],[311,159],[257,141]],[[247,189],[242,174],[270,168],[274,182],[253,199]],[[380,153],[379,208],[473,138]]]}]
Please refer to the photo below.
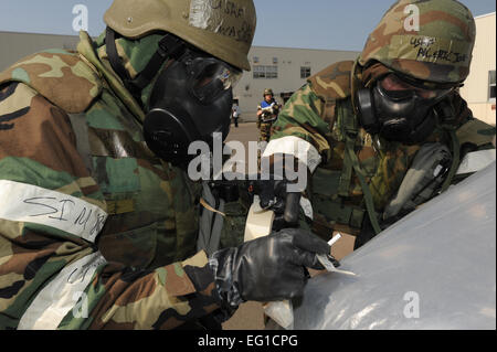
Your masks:
[{"label": "woodland camouflage jacket of the right soldier, with white sleeve band", "polygon": [[[381,214],[395,195],[421,146],[405,146],[381,140],[374,145],[357,122],[352,107],[352,72],[355,62],[334,64],[308,79],[286,104],[273,126],[265,156],[290,153],[306,160],[313,172],[308,196],[313,205],[313,230],[324,237],[332,231],[359,234],[366,213],[363,192],[352,168],[345,164],[346,134],[356,130],[352,146],[371,191],[374,209]],[[466,102],[454,94],[456,135],[462,147],[490,149],[495,128],[473,118]],[[306,147],[296,142],[305,140]],[[426,140],[451,146],[442,129]],[[300,146],[297,150],[296,146]],[[350,182],[343,184],[349,173]]]}]

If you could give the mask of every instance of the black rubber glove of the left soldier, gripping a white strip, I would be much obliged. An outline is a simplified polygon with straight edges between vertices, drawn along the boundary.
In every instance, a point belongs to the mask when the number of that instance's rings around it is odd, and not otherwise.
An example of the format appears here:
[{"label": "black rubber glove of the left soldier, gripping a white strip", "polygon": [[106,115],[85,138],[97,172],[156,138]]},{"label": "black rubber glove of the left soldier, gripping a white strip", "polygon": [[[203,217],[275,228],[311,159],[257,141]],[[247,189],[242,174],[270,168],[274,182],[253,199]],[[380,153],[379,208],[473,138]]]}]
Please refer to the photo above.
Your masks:
[{"label": "black rubber glove of the left soldier, gripping a white strip", "polygon": [[317,254],[329,245],[310,232],[288,228],[212,255],[210,267],[222,308],[234,311],[247,300],[278,301],[299,297],[307,268],[322,270]]}]

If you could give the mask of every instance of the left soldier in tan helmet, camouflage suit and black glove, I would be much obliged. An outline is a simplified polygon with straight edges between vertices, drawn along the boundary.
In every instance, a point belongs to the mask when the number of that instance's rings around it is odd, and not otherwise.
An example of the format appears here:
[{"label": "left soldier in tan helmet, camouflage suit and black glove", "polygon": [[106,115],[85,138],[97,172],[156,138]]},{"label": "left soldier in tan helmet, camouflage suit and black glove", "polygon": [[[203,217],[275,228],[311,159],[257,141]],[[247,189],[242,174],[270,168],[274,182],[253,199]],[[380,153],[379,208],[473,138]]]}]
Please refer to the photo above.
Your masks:
[{"label": "left soldier in tan helmet, camouflage suit and black glove", "polygon": [[144,136],[154,92],[186,72],[187,53],[223,67],[200,72],[195,92],[214,83],[231,108],[228,83],[250,70],[255,9],[221,3],[116,0],[95,42],[81,32],[77,52],[47,50],[0,74],[1,329],[172,329],[302,294],[295,268],[316,266],[326,243],[287,231],[197,253],[200,188]]}]

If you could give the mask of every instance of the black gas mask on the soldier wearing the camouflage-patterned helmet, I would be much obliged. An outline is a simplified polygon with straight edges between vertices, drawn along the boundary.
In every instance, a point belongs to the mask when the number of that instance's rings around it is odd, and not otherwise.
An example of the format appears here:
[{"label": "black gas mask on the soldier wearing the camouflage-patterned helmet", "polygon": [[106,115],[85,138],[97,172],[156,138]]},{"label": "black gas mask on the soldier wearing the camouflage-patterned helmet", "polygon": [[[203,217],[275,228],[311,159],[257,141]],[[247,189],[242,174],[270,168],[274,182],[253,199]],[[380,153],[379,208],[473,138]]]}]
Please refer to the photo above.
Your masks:
[{"label": "black gas mask on the soldier wearing the camouflage-patterned helmet", "polygon": [[387,140],[415,145],[425,140],[438,122],[435,106],[452,87],[425,89],[394,74],[378,79],[371,88],[358,90],[357,106],[362,128]]}]

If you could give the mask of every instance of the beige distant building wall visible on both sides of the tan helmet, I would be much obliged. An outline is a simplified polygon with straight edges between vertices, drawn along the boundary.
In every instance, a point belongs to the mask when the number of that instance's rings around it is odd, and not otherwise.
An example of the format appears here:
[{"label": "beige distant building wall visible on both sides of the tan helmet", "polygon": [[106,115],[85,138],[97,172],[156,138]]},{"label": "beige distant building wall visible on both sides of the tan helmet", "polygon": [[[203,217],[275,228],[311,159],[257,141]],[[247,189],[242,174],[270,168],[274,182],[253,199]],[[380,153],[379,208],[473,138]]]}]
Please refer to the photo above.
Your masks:
[{"label": "beige distant building wall visible on both sides of the tan helmet", "polygon": [[[78,41],[77,35],[0,32],[0,72],[42,50],[75,50]],[[359,52],[351,51],[253,46],[248,54],[252,66],[277,66],[277,78],[254,78],[254,72],[244,73],[234,92],[240,102],[241,120],[256,120],[257,105],[263,100],[265,88],[273,88],[279,103],[283,103],[282,93],[300,88],[306,83],[306,78],[300,78],[300,67],[308,67],[314,75],[332,63],[357,56]]]}]

